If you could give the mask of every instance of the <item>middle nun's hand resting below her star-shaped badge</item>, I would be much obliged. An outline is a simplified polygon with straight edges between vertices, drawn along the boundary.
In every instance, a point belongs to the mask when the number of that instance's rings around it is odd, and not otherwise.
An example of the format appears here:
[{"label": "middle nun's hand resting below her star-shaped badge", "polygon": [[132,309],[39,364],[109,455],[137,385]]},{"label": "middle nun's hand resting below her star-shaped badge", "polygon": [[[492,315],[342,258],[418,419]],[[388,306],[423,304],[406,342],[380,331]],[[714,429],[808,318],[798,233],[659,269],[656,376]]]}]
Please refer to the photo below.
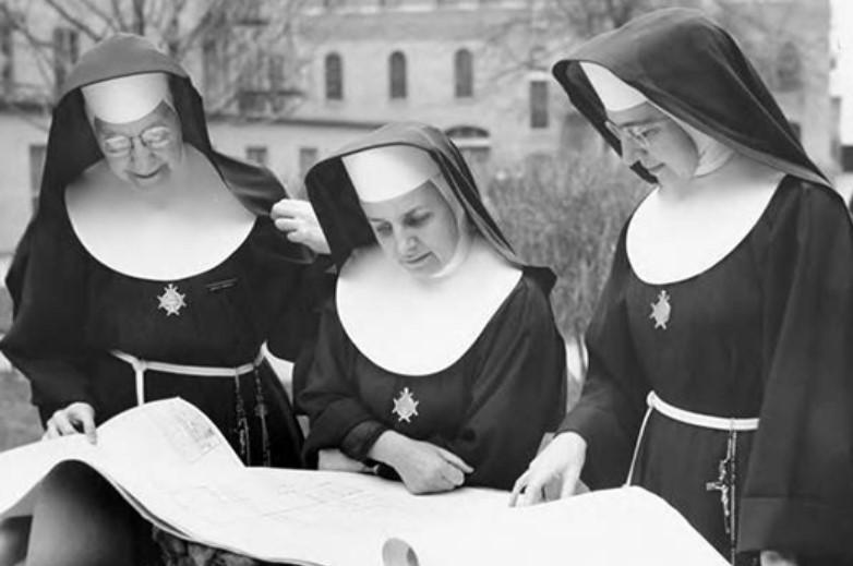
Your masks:
[{"label": "middle nun's hand resting below her star-shaped badge", "polygon": [[416,495],[454,490],[465,483],[466,473],[473,471],[452,451],[394,431],[380,435],[370,457],[394,468],[406,489]]}]

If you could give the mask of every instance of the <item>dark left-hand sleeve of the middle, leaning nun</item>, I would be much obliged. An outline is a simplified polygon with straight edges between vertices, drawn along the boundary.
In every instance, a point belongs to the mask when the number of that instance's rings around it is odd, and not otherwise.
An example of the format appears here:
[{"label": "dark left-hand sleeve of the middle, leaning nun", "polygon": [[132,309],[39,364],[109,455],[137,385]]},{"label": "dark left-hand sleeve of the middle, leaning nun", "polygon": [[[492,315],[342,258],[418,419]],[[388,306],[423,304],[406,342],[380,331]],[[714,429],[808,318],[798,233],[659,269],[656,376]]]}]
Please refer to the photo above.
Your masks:
[{"label": "dark left-hand sleeve of the middle, leaning nun", "polygon": [[[312,364],[305,380],[295,383],[295,397],[299,409],[308,413],[311,430],[305,438],[305,455],[313,461],[322,448],[341,448],[345,444],[367,445],[363,433],[356,434],[359,438],[347,437],[353,429],[364,431],[362,424],[373,423],[371,432],[367,433],[373,439],[385,430],[359,400],[350,375],[356,365],[357,350],[346,336],[335,309],[334,298],[326,301],[320,321],[316,348]],[[350,457],[363,459],[369,446],[361,446],[348,453]]]}]

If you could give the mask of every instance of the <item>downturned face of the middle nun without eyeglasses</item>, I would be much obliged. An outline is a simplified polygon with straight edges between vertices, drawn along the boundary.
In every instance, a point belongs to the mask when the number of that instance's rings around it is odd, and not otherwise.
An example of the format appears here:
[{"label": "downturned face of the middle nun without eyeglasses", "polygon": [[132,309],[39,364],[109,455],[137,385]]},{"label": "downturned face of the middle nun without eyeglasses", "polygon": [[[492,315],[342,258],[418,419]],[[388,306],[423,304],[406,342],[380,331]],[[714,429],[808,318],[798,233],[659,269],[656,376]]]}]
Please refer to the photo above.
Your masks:
[{"label": "downturned face of the middle nun without eyeglasses", "polygon": [[453,258],[459,229],[432,181],[395,198],[361,203],[361,207],[383,252],[412,275],[436,274]]}]

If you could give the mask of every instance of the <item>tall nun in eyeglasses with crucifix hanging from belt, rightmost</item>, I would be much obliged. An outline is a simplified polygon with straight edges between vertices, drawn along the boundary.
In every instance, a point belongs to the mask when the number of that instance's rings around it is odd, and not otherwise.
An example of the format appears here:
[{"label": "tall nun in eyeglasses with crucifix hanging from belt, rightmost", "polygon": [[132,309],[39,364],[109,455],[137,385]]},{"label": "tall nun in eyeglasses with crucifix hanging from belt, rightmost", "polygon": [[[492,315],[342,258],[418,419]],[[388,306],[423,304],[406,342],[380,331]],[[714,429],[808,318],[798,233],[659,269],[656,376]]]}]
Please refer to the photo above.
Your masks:
[{"label": "tall nun in eyeglasses with crucifix hanging from belt, rightmost", "polygon": [[[670,9],[554,67],[652,185],[586,336],[589,373],[518,480],[663,496],[738,564],[853,561],[853,230],[736,41]],[[845,562],[846,561],[846,562]]]}]

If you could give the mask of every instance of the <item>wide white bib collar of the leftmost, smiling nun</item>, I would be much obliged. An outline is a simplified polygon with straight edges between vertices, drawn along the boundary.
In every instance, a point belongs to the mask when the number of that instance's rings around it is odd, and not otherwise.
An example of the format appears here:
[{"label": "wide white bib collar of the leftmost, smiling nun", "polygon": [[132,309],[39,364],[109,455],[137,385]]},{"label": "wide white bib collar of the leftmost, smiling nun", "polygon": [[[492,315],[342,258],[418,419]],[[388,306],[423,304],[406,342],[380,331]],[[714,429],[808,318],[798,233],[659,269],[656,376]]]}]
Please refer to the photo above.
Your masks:
[{"label": "wide white bib collar of the leftmost, smiling nun", "polygon": [[[205,273],[233,254],[255,216],[195,147],[168,185],[139,190],[98,161],[65,190],[71,227],[92,257],[130,277],[177,281]],[[163,198],[149,198],[146,191]]]}]

